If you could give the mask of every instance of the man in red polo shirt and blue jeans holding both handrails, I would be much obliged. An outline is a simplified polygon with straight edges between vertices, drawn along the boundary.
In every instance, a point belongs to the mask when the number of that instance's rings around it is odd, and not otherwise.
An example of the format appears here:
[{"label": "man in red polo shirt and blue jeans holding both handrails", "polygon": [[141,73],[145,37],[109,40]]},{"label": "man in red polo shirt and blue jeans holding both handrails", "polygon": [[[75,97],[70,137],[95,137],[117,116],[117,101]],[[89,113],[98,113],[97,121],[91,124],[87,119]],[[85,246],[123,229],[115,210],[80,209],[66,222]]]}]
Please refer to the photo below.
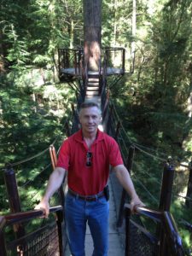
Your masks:
[{"label": "man in red polo shirt and blue jeans holding both handrails", "polygon": [[94,256],[108,255],[108,183],[109,165],[131,196],[131,207],[143,205],[126,170],[118,144],[98,130],[101,110],[95,102],[84,102],[79,110],[81,129],[61,145],[55,171],[38,208],[49,214],[49,198],[60,188],[67,172],[65,202],[67,236],[71,253],[84,256],[86,223],[94,241]]}]

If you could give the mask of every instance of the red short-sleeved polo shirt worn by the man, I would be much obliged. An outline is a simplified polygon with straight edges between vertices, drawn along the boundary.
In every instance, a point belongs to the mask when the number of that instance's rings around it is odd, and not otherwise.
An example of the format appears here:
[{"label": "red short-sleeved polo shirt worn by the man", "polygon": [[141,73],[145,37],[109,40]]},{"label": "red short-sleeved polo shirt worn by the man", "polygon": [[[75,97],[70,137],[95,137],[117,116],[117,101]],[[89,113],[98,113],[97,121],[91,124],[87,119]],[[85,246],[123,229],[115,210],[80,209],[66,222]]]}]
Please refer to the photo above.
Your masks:
[{"label": "red short-sleeved polo shirt worn by the man", "polygon": [[[92,153],[91,166],[86,166],[88,151]],[[119,145],[113,137],[98,130],[89,150],[79,130],[62,143],[56,166],[68,171],[70,189],[80,195],[96,195],[108,182],[109,165],[122,164]]]}]

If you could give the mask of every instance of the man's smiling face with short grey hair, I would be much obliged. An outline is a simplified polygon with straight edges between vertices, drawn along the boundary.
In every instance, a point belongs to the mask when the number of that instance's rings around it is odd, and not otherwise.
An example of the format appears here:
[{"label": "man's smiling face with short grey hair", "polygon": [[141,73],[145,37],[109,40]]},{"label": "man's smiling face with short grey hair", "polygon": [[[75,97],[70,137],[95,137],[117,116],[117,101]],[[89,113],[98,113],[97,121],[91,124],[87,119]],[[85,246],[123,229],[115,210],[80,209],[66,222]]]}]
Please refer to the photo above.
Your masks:
[{"label": "man's smiling face with short grey hair", "polygon": [[97,127],[101,120],[101,114],[96,107],[83,108],[79,115],[79,121],[82,126],[82,130],[87,133],[93,133],[97,131]]}]

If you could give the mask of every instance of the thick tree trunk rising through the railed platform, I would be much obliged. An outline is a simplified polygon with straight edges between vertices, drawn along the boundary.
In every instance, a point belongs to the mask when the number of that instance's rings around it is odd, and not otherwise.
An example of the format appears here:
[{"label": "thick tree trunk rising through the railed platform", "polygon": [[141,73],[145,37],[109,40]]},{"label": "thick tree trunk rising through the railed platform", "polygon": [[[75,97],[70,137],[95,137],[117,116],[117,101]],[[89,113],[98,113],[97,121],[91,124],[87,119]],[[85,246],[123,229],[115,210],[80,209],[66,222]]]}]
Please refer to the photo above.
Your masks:
[{"label": "thick tree trunk rising through the railed platform", "polygon": [[84,0],[84,60],[98,71],[101,58],[102,0]]}]

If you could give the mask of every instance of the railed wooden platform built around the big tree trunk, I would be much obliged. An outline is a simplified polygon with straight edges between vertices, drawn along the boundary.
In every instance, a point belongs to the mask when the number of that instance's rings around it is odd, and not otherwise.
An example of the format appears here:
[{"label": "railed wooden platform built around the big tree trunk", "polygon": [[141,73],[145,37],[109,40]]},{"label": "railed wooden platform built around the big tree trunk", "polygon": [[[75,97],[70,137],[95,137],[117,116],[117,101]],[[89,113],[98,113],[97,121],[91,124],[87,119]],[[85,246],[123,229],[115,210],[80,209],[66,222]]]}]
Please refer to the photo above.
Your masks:
[{"label": "railed wooden platform built around the big tree trunk", "polygon": [[101,48],[100,67],[98,71],[90,71],[84,61],[84,49],[58,49],[58,70],[61,81],[72,82],[75,79],[85,80],[89,76],[119,77],[125,73],[125,49]]}]

